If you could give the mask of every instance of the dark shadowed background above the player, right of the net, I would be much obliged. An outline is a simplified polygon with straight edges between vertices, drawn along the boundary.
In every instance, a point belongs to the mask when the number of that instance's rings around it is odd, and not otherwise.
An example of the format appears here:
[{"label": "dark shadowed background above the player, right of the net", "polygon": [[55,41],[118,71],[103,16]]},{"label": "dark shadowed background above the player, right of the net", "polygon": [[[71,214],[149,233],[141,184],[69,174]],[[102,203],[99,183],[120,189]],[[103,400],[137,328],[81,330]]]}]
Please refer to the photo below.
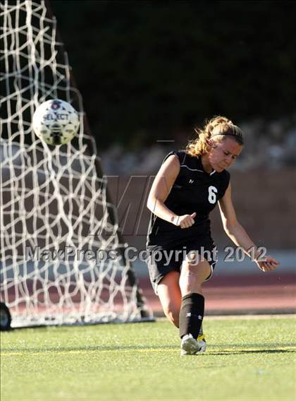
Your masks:
[{"label": "dark shadowed background above the player, right of the net", "polygon": [[295,112],[295,1],[51,1],[94,136],[130,148],[216,114]]}]

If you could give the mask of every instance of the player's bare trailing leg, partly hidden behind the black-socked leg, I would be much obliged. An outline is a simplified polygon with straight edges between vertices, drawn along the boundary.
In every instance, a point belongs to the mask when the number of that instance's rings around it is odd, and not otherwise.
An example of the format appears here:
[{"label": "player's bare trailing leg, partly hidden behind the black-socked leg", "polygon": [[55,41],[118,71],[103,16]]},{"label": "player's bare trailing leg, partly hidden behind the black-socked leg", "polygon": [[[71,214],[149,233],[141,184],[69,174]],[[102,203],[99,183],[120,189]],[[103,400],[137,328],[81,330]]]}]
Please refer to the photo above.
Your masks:
[{"label": "player's bare trailing leg, partly hidden behind the black-socked leg", "polygon": [[157,285],[157,295],[161,301],[162,309],[168,320],[179,327],[179,315],[181,307],[181,292],[179,286],[180,273],[171,271]]}]

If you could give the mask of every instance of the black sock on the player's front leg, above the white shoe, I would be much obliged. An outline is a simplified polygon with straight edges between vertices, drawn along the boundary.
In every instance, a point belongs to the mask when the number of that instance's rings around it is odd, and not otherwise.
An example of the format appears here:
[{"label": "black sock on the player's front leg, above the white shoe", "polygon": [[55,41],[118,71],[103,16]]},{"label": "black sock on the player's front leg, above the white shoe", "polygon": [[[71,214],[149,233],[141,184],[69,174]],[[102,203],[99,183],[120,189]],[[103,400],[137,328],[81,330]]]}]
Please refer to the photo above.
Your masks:
[{"label": "black sock on the player's front leg, above the white shoe", "polygon": [[204,318],[204,297],[202,294],[187,294],[182,298],[180,309],[180,337],[191,334],[197,339]]}]

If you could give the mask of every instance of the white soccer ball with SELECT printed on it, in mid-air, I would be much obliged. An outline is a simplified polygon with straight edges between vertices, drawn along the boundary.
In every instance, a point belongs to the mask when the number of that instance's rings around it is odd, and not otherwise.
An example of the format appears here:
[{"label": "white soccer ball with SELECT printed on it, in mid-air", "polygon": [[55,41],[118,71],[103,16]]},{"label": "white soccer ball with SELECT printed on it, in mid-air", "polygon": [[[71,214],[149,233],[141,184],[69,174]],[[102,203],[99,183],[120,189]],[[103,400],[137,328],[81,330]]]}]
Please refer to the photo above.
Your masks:
[{"label": "white soccer ball with SELECT printed on it, in mid-air", "polygon": [[47,100],[35,110],[32,126],[38,138],[49,145],[63,145],[78,132],[79,115],[64,100]]}]

